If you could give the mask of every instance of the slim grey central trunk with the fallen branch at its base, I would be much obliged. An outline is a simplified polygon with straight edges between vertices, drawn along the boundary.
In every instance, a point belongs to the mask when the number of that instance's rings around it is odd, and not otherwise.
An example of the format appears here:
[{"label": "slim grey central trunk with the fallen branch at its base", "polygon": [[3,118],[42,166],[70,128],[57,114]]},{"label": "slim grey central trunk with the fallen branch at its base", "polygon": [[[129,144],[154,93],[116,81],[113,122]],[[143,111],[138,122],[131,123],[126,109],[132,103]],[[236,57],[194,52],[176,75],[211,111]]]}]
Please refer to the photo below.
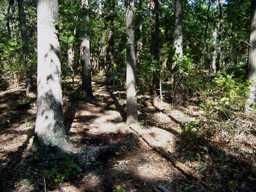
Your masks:
[{"label": "slim grey central trunk with the fallen branch at its base", "polygon": [[135,27],[134,27],[134,0],[126,1],[126,124],[138,124],[136,80],[135,80]]}]

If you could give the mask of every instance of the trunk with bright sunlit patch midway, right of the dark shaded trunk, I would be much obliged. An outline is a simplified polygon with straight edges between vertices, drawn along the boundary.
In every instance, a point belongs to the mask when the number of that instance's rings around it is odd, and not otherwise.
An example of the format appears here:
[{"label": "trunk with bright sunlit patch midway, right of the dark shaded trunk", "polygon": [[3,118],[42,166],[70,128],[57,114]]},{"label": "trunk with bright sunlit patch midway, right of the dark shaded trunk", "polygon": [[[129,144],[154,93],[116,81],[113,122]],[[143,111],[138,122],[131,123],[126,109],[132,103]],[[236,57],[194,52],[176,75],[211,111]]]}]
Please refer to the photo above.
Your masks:
[{"label": "trunk with bright sunlit patch midway, right of the dark shaded trunk", "polygon": [[[182,0],[175,0],[175,26],[174,26],[174,51],[177,57],[176,62],[182,62],[181,57],[183,56],[182,49]],[[173,105],[183,105],[183,71],[180,67],[175,64],[174,67],[174,98]]]}]

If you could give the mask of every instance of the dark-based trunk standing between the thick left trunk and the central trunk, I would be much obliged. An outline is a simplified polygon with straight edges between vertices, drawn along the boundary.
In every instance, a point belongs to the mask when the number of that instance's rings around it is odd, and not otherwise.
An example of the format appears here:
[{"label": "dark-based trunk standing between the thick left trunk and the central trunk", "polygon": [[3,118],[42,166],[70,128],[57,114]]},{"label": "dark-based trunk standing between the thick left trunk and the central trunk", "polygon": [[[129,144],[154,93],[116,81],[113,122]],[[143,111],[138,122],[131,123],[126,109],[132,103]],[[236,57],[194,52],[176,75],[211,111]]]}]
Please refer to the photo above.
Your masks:
[{"label": "dark-based trunk standing between the thick left trunk and the central trunk", "polygon": [[82,63],[82,97],[93,97],[92,93],[92,76],[90,65],[90,40],[89,40],[89,14],[88,14],[88,0],[81,0],[82,14],[85,17],[86,29],[84,36],[82,36],[80,57]]}]

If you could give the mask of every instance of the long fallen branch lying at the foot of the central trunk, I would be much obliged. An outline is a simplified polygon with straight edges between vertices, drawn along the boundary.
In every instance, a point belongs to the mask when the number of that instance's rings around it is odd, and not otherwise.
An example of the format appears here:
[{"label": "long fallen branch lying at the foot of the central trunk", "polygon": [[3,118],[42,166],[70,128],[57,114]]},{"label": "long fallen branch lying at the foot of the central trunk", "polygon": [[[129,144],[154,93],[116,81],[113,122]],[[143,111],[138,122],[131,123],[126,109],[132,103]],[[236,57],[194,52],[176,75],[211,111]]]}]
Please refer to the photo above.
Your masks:
[{"label": "long fallen branch lying at the foot of the central trunk", "polygon": [[161,155],[163,155],[164,157],[168,158],[168,160],[171,160],[174,165],[179,168],[183,173],[185,173],[189,178],[195,178],[192,170],[190,170],[189,168],[187,168],[187,166],[185,166],[182,162],[176,160],[176,158],[174,156],[171,155],[170,151],[167,151],[166,149],[164,149],[163,147],[159,147],[153,144],[152,141],[150,141],[150,139],[143,135],[143,133],[141,132],[141,128],[139,128],[137,125],[135,124],[131,124],[129,126],[133,131],[135,131],[139,136],[142,137],[142,139],[144,141],[146,141],[146,143],[148,145],[150,145],[150,147],[152,147],[153,149],[155,149],[155,151],[157,151],[158,153],[160,153]]}]

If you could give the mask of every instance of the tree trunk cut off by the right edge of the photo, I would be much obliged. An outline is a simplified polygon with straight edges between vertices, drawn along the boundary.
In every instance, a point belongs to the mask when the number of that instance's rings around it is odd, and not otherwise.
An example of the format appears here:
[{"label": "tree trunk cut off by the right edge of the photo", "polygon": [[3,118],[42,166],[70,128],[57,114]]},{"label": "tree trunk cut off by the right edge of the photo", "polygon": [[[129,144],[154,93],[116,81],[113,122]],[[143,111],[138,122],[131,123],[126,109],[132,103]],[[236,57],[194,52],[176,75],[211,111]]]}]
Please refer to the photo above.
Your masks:
[{"label": "tree trunk cut off by the right edge of the photo", "polygon": [[[256,2],[251,1],[251,22],[250,22],[250,47],[247,64],[247,81],[253,82],[256,80]],[[250,86],[250,95],[246,102],[246,113],[250,114],[253,111],[251,105],[255,102],[255,82]]]}]

